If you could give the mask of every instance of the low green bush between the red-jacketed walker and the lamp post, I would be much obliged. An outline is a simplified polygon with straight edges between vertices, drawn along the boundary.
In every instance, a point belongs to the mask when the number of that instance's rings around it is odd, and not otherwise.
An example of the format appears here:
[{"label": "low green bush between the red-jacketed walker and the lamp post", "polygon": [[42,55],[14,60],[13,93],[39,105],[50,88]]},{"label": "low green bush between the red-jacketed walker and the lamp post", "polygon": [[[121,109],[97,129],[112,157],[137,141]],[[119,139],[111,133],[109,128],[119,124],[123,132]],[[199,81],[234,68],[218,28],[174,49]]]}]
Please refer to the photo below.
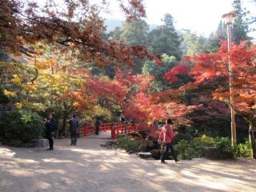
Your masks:
[{"label": "low green bush between the red-jacketed walker and the lamp post", "polygon": [[202,135],[201,138],[193,138],[190,142],[181,140],[175,145],[179,159],[202,158],[204,147],[216,147],[219,152],[218,158],[234,158],[234,150],[229,138],[210,138]]}]

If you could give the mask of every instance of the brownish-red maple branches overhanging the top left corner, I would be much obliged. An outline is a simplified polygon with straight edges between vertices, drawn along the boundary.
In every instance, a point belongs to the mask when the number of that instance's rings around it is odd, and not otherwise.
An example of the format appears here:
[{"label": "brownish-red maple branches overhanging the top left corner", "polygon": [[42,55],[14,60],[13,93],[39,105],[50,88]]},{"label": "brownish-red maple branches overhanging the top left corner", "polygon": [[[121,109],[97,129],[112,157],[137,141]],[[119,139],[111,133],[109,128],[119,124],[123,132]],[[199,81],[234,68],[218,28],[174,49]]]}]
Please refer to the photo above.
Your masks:
[{"label": "brownish-red maple branches overhanging the top left corner", "polygon": [[[136,15],[145,16],[140,0],[129,0],[136,14],[121,4],[128,19]],[[1,0],[0,48],[13,54],[38,54],[34,43],[58,43],[73,46],[79,51],[79,58],[85,62],[95,62],[99,66],[118,60],[134,65],[134,58],[154,56],[143,46],[126,46],[111,40],[104,40],[106,30],[99,10],[106,9],[106,1],[101,5],[90,1],[66,0],[62,7],[58,1],[50,0],[40,6],[37,2],[22,0]]]}]

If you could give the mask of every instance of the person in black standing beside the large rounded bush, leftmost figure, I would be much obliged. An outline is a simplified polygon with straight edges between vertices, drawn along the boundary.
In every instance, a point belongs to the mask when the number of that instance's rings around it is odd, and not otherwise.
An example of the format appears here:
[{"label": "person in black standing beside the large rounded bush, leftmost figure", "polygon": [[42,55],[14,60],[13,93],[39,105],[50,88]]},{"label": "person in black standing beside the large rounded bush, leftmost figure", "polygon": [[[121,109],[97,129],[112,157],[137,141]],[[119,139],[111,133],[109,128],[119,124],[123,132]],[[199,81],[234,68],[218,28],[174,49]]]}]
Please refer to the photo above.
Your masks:
[{"label": "person in black standing beside the large rounded bush, leftmost figure", "polygon": [[45,118],[45,125],[46,125],[46,138],[49,140],[49,149],[47,150],[54,150],[54,130],[58,129],[58,124],[55,120],[55,114],[49,114],[49,120]]}]

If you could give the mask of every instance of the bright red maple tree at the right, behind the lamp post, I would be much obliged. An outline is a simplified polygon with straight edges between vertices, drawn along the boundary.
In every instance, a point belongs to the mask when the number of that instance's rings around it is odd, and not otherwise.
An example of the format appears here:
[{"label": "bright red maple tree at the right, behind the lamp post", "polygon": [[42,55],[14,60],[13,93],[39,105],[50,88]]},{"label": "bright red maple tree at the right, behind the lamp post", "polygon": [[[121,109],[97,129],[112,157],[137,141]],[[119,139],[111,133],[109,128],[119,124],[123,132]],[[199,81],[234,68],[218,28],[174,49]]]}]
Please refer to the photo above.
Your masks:
[{"label": "bright red maple tree at the right, behind the lamp post", "polygon": [[[232,85],[234,86],[234,103],[230,103],[229,91],[229,67],[232,67]],[[250,146],[256,158],[254,143],[255,125],[255,96],[256,96],[256,49],[248,46],[246,42],[240,45],[232,45],[230,53],[227,51],[226,42],[222,42],[216,54],[198,54],[183,59],[182,66],[176,66],[165,78],[170,82],[178,80],[180,74],[186,74],[194,78],[180,89],[198,89],[201,85],[215,84],[211,87],[211,95],[214,99],[226,102],[237,114],[241,114],[249,124]]]}]

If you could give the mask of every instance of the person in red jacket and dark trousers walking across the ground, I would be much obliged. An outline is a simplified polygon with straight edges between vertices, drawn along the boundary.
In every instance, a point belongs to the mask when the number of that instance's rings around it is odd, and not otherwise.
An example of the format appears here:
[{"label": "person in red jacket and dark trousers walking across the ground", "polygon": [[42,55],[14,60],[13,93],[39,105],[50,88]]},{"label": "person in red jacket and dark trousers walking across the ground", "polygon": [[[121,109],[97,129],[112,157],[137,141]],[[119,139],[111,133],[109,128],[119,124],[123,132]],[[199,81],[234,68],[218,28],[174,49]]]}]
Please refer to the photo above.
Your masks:
[{"label": "person in red jacket and dark trousers walking across the ground", "polygon": [[162,163],[165,163],[166,155],[168,154],[169,150],[171,150],[171,153],[174,156],[175,162],[178,162],[178,159],[174,151],[174,146],[172,144],[172,140],[178,134],[178,132],[174,132],[171,124],[172,124],[172,120],[168,118],[166,120],[166,124],[162,126],[161,132],[159,134],[159,140],[164,142],[166,145],[165,152],[162,154],[162,158],[161,158]]}]

